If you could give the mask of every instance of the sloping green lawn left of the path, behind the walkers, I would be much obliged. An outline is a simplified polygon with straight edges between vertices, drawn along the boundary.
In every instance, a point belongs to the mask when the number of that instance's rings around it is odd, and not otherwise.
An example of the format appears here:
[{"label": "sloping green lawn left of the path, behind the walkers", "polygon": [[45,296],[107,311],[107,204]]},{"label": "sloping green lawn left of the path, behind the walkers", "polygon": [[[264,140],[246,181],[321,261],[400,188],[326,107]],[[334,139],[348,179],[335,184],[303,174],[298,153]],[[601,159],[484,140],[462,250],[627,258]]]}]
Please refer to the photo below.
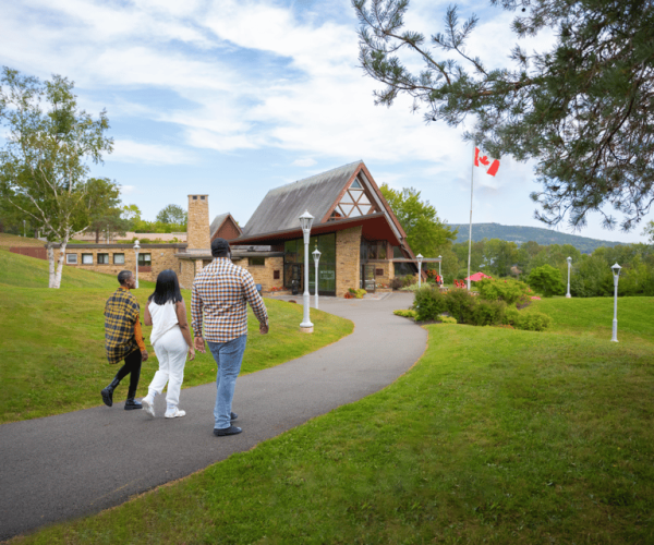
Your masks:
[{"label": "sloping green lawn left of the path, behind the walkers", "polygon": [[[45,277],[43,267],[45,265]],[[62,288],[47,286],[47,262],[0,251],[0,423],[36,419],[101,404],[100,390],[118,371],[105,355],[104,308],[117,289],[113,276],[85,270],[64,270]],[[11,286],[9,284],[11,283]],[[27,287],[25,287],[27,286]],[[152,282],[134,290],[141,308],[152,293]],[[191,293],[182,291],[191,322]],[[258,334],[258,322],[250,311],[250,335],[242,373],[253,373],[299,358],[337,341],[353,330],[353,324],[330,314],[312,311],[315,332],[300,332],[300,305],[266,299],[270,332]],[[144,327],[146,347],[149,331]],[[150,358],[141,374],[138,396],[147,393],[158,362]],[[210,353],[196,354],[184,370],[183,387],[216,379]],[[126,392],[122,388],[116,398]]]}]

